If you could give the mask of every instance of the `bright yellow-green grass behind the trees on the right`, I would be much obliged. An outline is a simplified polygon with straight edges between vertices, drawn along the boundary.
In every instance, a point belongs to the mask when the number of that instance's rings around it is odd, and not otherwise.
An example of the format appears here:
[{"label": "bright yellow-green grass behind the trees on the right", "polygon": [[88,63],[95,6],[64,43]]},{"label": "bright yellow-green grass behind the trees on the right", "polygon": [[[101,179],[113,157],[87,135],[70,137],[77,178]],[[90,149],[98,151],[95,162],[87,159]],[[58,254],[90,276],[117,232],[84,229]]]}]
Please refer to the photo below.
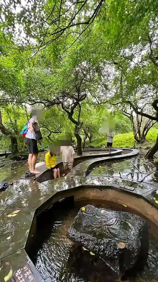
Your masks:
[{"label": "bright yellow-green grass behind the trees on the right", "polygon": [[[157,134],[158,134],[158,129],[155,128],[150,129],[150,131],[146,135],[146,142],[144,142],[144,144],[141,144],[141,146],[144,148],[152,147],[154,142],[156,141]],[[133,148],[133,144],[134,144],[134,136],[132,132],[114,135],[113,147]],[[107,147],[107,138],[98,138],[92,140],[91,143],[89,143],[89,141],[86,142],[86,147],[94,146],[94,148],[97,148],[100,147],[101,145],[103,148]]]}]

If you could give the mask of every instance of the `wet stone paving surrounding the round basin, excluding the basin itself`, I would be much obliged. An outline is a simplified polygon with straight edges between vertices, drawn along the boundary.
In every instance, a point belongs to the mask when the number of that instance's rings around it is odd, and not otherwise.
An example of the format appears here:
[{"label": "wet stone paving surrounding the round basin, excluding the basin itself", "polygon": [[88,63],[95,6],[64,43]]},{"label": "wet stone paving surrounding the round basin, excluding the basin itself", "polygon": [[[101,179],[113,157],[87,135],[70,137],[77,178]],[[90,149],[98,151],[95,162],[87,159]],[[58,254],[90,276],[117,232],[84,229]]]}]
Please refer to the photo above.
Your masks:
[{"label": "wet stone paving surrounding the round basin, excluding the basin itself", "polygon": [[[27,161],[0,161],[0,181],[13,183],[4,192],[0,192],[0,281],[44,282],[42,273],[31,262],[25,247],[35,216],[49,207],[50,200],[53,203],[55,197],[62,199],[62,191],[76,187],[100,190],[110,187],[137,194],[158,209],[156,163],[136,156],[137,150],[124,150],[121,154],[120,149],[114,150],[110,156],[105,150],[94,151],[94,159],[93,156],[90,158],[91,152],[87,152],[87,160],[84,155],[83,161],[77,161],[79,164],[67,176],[41,183],[36,178],[25,178]],[[134,157],[125,160],[125,155],[126,158]],[[80,158],[76,156],[75,159]],[[43,161],[43,155],[39,160]],[[46,172],[45,166],[40,171],[42,176]]]}]

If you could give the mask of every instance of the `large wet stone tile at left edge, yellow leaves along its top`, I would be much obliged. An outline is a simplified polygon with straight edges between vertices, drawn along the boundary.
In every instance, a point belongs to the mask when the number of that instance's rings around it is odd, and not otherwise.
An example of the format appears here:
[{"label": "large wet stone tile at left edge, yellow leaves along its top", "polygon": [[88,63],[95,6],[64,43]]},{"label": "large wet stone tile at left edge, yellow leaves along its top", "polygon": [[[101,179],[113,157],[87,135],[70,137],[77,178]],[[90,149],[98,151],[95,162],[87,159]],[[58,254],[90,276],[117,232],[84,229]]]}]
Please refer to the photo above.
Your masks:
[{"label": "large wet stone tile at left edge, yellow leaves along its top", "polygon": [[0,215],[0,258],[25,247],[34,213],[7,209]]}]

